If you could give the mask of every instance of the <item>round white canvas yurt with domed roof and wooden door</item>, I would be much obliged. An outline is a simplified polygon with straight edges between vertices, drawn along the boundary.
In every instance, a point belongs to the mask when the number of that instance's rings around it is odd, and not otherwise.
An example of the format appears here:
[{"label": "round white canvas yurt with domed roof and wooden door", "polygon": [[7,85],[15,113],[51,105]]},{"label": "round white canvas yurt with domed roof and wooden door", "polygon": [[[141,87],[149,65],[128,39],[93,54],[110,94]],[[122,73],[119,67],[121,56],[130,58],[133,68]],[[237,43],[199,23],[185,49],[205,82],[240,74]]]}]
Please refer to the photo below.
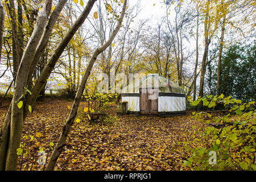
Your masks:
[{"label": "round white canvas yurt with domed roof and wooden door", "polygon": [[150,74],[137,77],[121,92],[128,114],[185,114],[185,92],[170,78]]}]

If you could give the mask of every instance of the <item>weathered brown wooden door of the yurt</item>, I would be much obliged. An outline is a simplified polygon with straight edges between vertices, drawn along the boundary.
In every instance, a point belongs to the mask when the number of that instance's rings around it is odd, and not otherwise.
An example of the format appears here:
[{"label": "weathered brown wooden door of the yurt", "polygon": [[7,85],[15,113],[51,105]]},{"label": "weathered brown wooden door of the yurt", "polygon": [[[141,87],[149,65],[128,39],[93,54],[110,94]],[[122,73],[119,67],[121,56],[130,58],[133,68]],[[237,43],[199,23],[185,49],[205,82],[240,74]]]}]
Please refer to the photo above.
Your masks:
[{"label": "weathered brown wooden door of the yurt", "polygon": [[158,111],[158,89],[140,89],[140,109],[145,113]]}]

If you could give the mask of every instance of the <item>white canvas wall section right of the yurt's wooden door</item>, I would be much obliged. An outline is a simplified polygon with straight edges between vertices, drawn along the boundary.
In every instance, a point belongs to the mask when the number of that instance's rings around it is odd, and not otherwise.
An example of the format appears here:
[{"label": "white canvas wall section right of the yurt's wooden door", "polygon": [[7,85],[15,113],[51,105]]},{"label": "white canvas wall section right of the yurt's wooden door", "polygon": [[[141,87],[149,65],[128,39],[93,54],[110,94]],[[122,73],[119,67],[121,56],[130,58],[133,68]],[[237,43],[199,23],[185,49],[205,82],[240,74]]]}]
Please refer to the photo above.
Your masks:
[{"label": "white canvas wall section right of the yurt's wooden door", "polygon": [[184,111],[186,110],[185,97],[158,97],[158,111]]}]

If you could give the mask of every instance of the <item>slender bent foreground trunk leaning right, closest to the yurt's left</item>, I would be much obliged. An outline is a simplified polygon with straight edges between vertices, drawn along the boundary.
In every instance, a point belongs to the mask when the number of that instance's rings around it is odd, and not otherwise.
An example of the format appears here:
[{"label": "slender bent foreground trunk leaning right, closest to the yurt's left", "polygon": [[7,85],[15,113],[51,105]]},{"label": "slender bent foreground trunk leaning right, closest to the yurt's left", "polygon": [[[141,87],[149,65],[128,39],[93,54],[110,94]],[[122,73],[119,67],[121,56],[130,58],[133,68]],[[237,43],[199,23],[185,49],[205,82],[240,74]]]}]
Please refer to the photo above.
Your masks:
[{"label": "slender bent foreground trunk leaning right, closest to the yurt's left", "polygon": [[64,147],[65,140],[67,139],[68,133],[71,130],[71,126],[73,125],[73,122],[75,121],[75,118],[76,118],[76,115],[77,115],[77,109],[78,109],[79,104],[80,104],[80,99],[81,99],[82,93],[84,92],[84,89],[85,89],[86,81],[87,81],[87,79],[90,75],[90,71],[92,70],[93,64],[96,61],[97,56],[102,51],[104,51],[108,46],[110,46],[110,44],[112,43],[115,35],[117,35],[117,32],[119,31],[119,29],[121,27],[123,16],[125,15],[126,3],[127,3],[127,0],[125,0],[125,2],[123,3],[122,14],[120,16],[119,22],[117,24],[117,27],[115,27],[115,30],[113,31],[109,40],[103,46],[101,46],[100,48],[97,48],[94,51],[94,53],[93,53],[93,55],[92,55],[92,57],[89,61],[89,64],[86,67],[84,76],[82,77],[82,80],[81,80],[81,84],[79,85],[79,89],[77,90],[77,93],[76,93],[75,101],[73,102],[72,110],[69,113],[69,117],[68,117],[68,119],[65,123],[65,126],[63,127],[63,131],[60,135],[57,146],[54,148],[54,150],[52,152],[52,155],[51,155],[51,158],[49,159],[49,163],[47,164],[46,170],[48,170],[48,171],[53,170],[53,168],[54,168],[54,166],[57,162],[57,159],[59,158],[59,155],[60,155],[60,153],[61,153],[61,151]]}]

